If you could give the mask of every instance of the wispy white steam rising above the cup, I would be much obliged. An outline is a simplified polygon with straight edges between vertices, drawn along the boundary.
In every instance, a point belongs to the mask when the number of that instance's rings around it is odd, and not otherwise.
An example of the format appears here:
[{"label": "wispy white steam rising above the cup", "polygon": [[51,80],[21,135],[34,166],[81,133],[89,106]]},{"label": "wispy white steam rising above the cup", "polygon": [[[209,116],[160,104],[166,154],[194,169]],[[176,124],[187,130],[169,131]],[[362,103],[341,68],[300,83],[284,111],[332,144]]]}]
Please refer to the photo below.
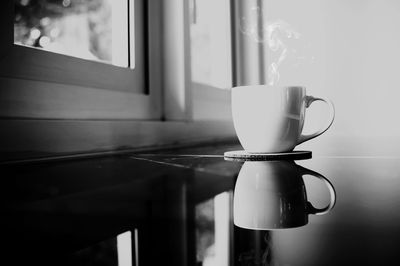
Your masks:
[{"label": "wispy white steam rising above the cup", "polygon": [[301,64],[300,61],[304,61],[306,57],[297,55],[294,47],[294,45],[299,45],[299,43],[293,43],[300,39],[299,32],[283,20],[264,21],[264,18],[264,12],[260,7],[251,8],[247,15],[241,18],[240,31],[253,41],[264,45],[270,60],[267,83],[277,85],[280,79],[279,68],[286,58],[294,58],[296,62],[293,66],[298,67]]}]

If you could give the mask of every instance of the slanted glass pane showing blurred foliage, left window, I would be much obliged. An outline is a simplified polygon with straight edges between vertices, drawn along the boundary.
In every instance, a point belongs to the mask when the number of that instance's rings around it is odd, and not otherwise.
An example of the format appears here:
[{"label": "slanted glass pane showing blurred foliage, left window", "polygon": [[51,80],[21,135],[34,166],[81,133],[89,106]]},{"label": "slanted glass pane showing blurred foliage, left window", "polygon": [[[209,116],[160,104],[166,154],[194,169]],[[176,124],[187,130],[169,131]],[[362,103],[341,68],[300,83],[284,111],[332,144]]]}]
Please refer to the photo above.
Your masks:
[{"label": "slanted glass pane showing blurred foliage, left window", "polygon": [[127,0],[14,0],[14,43],[128,67]]}]

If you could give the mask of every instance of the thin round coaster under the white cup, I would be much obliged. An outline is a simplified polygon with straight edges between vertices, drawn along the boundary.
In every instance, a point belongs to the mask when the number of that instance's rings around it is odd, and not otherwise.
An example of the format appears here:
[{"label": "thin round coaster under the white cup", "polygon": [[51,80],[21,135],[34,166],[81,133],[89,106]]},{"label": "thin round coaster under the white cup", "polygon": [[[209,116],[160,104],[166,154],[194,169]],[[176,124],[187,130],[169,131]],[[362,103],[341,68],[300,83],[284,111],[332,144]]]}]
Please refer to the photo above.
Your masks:
[{"label": "thin round coaster under the white cup", "polygon": [[271,160],[304,160],[312,157],[311,151],[291,151],[277,153],[249,153],[244,150],[227,151],[226,160],[233,161],[271,161]]}]

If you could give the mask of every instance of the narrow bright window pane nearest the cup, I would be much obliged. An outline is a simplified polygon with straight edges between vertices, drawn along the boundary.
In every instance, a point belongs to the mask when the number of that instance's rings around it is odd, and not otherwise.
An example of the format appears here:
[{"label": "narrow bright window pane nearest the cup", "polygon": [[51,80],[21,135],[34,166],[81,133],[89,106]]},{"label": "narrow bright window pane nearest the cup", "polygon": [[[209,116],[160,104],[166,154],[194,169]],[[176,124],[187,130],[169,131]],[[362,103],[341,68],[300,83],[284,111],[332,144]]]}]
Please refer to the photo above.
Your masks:
[{"label": "narrow bright window pane nearest the cup", "polygon": [[229,1],[191,0],[190,4],[194,87],[228,89],[231,86]]}]

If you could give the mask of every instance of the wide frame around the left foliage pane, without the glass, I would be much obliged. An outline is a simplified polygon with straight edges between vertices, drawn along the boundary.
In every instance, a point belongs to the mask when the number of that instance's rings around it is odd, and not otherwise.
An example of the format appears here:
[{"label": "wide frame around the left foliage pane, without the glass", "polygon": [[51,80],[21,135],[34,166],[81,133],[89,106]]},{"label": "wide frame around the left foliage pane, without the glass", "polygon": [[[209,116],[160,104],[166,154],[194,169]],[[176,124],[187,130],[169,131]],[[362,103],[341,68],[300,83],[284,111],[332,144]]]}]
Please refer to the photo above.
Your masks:
[{"label": "wide frame around the left foliage pane, without the glass", "polygon": [[[10,80],[25,80],[24,87],[26,90],[30,90],[30,87],[39,86],[41,89],[48,90],[65,86],[98,89],[98,91],[103,91],[103,93],[100,93],[103,96],[98,97],[97,102],[107,102],[108,109],[115,110],[114,115],[104,117],[104,112],[99,111],[101,107],[91,106],[91,103],[89,103],[87,109],[93,111],[86,110],[85,114],[81,115],[82,109],[75,108],[76,112],[72,115],[72,118],[159,119],[162,112],[160,108],[161,71],[159,69],[160,25],[158,20],[150,20],[149,18],[159,17],[160,8],[157,8],[157,5],[160,5],[160,2],[127,1],[130,3],[130,14],[134,12],[134,21],[130,23],[130,26],[133,25],[134,27],[129,27],[130,34],[136,36],[134,38],[135,44],[129,45],[135,49],[134,69],[15,45],[13,36],[14,3],[13,1],[6,1],[5,7],[0,9],[0,34],[4,36],[0,44],[2,89],[16,90],[18,88],[15,88],[14,83],[21,85],[21,82],[9,82]],[[12,12],[9,12],[9,10],[12,10]],[[148,51],[154,52],[149,53]],[[7,82],[4,82],[4,80],[7,80]],[[4,88],[5,85],[7,88]],[[105,91],[108,91],[108,93]],[[120,104],[118,103],[120,100],[107,101],[105,98],[108,97],[110,92],[128,94],[130,103]],[[97,98],[95,95],[92,97]],[[32,105],[37,101],[35,98],[29,100]],[[40,105],[41,102],[37,102],[37,104]],[[48,108],[50,112],[56,106]],[[124,109],[127,111],[124,112]],[[130,115],[128,111],[131,113]],[[32,113],[32,118],[39,117],[39,114],[35,115],[35,112],[30,113]],[[74,112],[71,110],[69,114],[71,115],[71,113]],[[121,115],[121,113],[123,114]],[[10,115],[12,116],[12,114]],[[30,117],[30,115],[26,114],[22,117]],[[49,118],[65,117],[55,115]]]}]

